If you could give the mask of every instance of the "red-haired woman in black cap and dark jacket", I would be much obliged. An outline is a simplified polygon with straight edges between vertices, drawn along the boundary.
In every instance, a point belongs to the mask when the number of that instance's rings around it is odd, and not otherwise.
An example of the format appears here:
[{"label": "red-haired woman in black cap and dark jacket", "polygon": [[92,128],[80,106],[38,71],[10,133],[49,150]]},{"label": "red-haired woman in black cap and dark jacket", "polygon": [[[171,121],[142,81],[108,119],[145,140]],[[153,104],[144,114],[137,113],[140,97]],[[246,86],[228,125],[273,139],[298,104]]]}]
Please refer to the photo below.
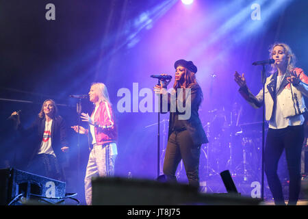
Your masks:
[{"label": "red-haired woman in black cap and dark jacket", "polygon": [[[177,60],[175,62],[175,83],[172,91],[166,92],[170,80],[161,80],[160,86],[156,85],[154,91],[161,95],[162,104],[166,100],[170,112],[168,144],[164,158],[166,181],[177,182],[175,172],[179,162],[183,159],[189,185],[198,187],[201,144],[207,143],[208,140],[198,116],[203,92],[196,82],[196,72],[197,68],[193,62]],[[181,110],[183,106],[185,106],[185,112]],[[161,112],[163,110],[164,108],[161,107]]]}]

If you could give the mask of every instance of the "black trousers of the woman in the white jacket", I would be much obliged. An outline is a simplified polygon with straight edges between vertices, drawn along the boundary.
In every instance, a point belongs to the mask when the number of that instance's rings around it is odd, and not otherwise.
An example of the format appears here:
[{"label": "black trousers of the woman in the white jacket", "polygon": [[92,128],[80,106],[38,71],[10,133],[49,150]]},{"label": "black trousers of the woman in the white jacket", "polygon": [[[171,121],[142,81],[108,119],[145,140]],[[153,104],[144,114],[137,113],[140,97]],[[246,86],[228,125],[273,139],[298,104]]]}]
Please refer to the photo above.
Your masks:
[{"label": "black trousers of the woman in the white jacket", "polygon": [[277,175],[279,159],[283,150],[289,171],[289,205],[296,205],[300,193],[300,155],[304,141],[303,125],[285,129],[268,129],[264,151],[264,170],[275,205],[285,205],[281,181]]}]

